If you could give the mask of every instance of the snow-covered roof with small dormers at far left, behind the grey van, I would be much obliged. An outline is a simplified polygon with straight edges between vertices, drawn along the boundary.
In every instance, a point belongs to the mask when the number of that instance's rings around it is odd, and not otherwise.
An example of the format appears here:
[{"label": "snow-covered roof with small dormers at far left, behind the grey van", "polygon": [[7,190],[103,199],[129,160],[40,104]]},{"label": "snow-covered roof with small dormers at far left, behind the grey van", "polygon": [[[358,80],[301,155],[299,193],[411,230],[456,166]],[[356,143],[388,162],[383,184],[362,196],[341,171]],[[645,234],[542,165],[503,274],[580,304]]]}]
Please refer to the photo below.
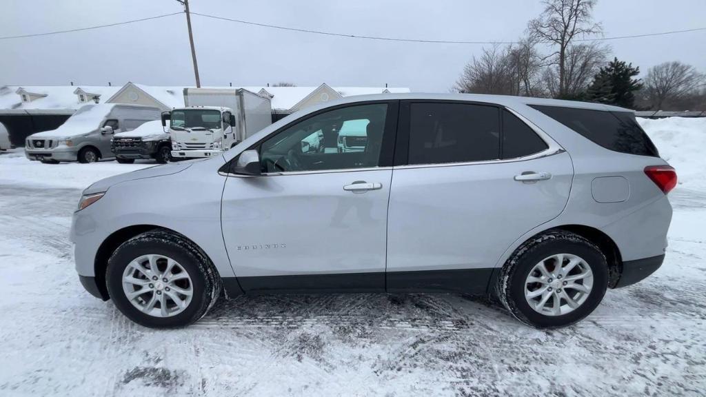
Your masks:
[{"label": "snow-covered roof with small dormers at far left, behind the grey van", "polygon": [[[20,95],[17,94],[19,88],[23,88],[28,93],[46,96],[32,102],[22,102]],[[78,96],[74,93],[78,88],[87,93],[100,95],[101,102],[120,89],[120,87],[101,85],[4,85],[0,87],[0,109],[47,109],[73,112],[86,105],[86,102],[78,102]]]}]

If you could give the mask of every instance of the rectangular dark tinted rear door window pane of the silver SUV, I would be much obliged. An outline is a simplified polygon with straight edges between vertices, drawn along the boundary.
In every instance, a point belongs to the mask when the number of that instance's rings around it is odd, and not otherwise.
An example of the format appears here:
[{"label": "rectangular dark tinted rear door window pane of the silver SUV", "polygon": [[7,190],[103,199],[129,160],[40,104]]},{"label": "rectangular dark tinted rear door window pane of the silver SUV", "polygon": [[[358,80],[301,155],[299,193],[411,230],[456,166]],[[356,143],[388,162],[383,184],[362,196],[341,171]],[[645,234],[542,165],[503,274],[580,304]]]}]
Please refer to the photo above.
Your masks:
[{"label": "rectangular dark tinted rear door window pane of the silver SUV", "polygon": [[460,103],[412,103],[409,164],[500,158],[497,107]]}]

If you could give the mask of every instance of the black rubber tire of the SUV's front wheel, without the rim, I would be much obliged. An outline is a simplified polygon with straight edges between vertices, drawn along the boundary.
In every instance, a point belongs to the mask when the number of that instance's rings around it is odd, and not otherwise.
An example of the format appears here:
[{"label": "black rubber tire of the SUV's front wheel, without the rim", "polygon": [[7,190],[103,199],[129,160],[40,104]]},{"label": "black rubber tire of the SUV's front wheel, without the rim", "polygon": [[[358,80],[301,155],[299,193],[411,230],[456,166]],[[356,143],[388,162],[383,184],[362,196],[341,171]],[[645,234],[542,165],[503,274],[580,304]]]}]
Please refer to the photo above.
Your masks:
[{"label": "black rubber tire of the SUV's front wheel, without the rim", "polygon": [[[134,307],[125,296],[122,277],[128,263],[142,255],[160,254],[177,261],[191,278],[193,296],[183,312],[168,317],[150,316]],[[220,275],[203,251],[174,232],[152,230],[121,244],[108,260],[108,293],[115,306],[132,321],[150,328],[188,326],[201,319],[222,290]]]}]

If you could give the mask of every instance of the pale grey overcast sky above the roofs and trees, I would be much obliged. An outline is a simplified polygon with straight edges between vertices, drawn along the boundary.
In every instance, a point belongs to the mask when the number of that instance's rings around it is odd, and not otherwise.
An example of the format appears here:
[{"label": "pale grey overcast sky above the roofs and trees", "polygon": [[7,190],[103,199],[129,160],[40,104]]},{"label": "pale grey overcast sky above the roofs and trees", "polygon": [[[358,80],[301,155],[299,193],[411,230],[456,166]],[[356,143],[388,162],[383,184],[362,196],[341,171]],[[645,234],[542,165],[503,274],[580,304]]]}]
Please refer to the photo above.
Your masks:
[{"label": "pale grey overcast sky above the roofs and trees", "polygon": [[[0,37],[82,28],[181,10],[174,0],[22,0],[0,6]],[[357,35],[515,40],[539,0],[191,0],[191,11]],[[706,26],[704,0],[599,0],[606,37]],[[361,40],[192,17],[202,85],[390,86],[447,92],[481,45]],[[683,61],[706,72],[706,31],[609,42],[645,72]],[[193,85],[184,14],[61,35],[0,40],[0,85]]]}]

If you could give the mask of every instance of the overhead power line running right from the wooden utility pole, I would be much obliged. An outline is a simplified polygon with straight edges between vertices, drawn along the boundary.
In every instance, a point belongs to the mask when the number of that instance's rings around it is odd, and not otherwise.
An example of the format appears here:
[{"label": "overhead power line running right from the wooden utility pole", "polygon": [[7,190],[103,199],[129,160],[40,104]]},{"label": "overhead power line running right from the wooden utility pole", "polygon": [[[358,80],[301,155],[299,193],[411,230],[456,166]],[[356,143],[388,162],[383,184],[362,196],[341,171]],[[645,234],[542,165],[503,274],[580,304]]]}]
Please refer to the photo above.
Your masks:
[{"label": "overhead power line running right from the wooden utility pole", "polygon": [[[349,37],[349,38],[355,38],[355,39],[369,39],[369,40],[386,40],[386,41],[393,41],[393,42],[422,42],[422,43],[437,43],[437,44],[519,44],[518,42],[515,41],[464,41],[464,40],[423,40],[423,39],[402,39],[402,38],[397,38],[397,37],[382,37],[382,36],[366,36],[366,35],[350,35],[346,33],[337,33],[337,32],[324,32],[322,30],[311,30],[311,29],[299,29],[299,28],[289,28],[287,26],[280,26],[280,25],[270,25],[268,23],[257,23],[257,22],[251,22],[249,20],[239,20],[239,19],[232,19],[232,18],[225,18],[222,16],[213,16],[213,15],[208,15],[208,14],[202,14],[202,13],[195,13],[192,12],[193,15],[198,15],[198,16],[203,16],[206,18],[213,18],[213,19],[220,19],[220,20],[228,20],[230,22],[236,22],[236,23],[243,23],[245,25],[255,25],[255,26],[261,26],[263,28],[273,28],[273,29],[281,29],[281,30],[292,30],[294,32],[304,32],[304,33],[313,33],[316,35],[327,35],[327,36],[337,36],[337,37]],[[575,42],[598,42],[598,41],[605,41],[605,40],[619,40],[619,39],[630,39],[630,38],[635,38],[635,37],[649,37],[649,36],[660,36],[660,35],[672,35],[675,33],[684,33],[684,32],[695,32],[698,30],[706,30],[706,28],[695,28],[695,29],[686,29],[686,30],[672,30],[670,32],[655,32],[655,33],[645,33],[641,35],[626,35],[626,36],[614,36],[614,37],[597,37],[594,39],[580,39],[580,40],[573,40]]]}]

